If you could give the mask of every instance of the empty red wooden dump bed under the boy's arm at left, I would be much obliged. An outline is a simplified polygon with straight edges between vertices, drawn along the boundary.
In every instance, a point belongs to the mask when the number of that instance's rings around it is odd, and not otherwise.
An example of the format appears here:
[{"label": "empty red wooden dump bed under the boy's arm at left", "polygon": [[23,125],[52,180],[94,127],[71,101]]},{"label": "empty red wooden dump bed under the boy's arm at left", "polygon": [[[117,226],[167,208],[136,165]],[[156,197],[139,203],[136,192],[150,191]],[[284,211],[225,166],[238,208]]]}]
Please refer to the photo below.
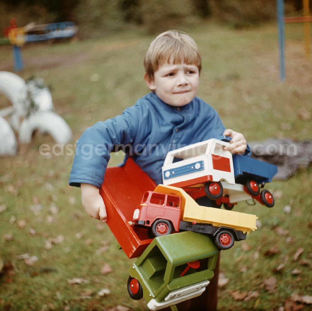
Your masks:
[{"label": "empty red wooden dump bed under the boy's arm at left", "polygon": [[151,243],[146,228],[130,226],[133,212],[141,203],[145,191],[156,185],[141,168],[128,159],[123,167],[109,167],[100,188],[106,211],[107,225],[129,258],[139,257]]}]

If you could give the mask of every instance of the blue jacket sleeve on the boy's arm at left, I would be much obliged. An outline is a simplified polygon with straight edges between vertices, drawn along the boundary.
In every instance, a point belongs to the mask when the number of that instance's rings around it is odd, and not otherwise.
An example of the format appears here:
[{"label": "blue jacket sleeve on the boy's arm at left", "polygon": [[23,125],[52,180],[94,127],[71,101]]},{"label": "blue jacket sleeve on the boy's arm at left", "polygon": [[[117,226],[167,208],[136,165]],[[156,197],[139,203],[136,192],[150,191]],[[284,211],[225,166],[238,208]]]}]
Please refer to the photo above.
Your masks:
[{"label": "blue jacket sleeve on the boy's arm at left", "polygon": [[110,153],[116,145],[133,143],[139,128],[139,108],[132,106],[122,115],[97,122],[85,130],[76,143],[69,185],[89,183],[100,188]]}]

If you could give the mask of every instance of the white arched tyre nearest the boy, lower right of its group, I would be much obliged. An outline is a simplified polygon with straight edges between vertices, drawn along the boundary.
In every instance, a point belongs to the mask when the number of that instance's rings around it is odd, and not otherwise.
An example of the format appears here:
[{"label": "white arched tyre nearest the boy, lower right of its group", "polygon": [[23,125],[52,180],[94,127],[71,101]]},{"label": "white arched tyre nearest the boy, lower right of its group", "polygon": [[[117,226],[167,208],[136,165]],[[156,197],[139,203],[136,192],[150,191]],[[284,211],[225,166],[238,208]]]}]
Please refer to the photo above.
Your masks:
[{"label": "white arched tyre nearest the boy, lower right of its group", "polygon": [[20,143],[30,143],[32,133],[39,130],[52,136],[56,143],[68,143],[71,141],[72,132],[66,121],[52,111],[36,112],[25,118],[18,130]]}]

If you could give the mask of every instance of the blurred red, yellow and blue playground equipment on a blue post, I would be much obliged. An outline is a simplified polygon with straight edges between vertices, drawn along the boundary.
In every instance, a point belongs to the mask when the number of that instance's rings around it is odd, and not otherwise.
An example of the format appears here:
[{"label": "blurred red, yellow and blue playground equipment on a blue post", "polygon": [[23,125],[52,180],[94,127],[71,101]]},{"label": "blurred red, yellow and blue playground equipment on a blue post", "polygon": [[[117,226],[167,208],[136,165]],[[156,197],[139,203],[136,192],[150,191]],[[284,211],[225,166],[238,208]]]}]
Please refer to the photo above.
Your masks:
[{"label": "blurred red, yellow and blue playground equipment on a blue post", "polygon": [[10,21],[10,26],[4,30],[8,41],[13,46],[14,70],[24,68],[21,47],[25,43],[47,41],[51,39],[71,38],[76,35],[78,27],[73,22],[59,22],[44,25],[29,24],[17,27],[15,18]]}]

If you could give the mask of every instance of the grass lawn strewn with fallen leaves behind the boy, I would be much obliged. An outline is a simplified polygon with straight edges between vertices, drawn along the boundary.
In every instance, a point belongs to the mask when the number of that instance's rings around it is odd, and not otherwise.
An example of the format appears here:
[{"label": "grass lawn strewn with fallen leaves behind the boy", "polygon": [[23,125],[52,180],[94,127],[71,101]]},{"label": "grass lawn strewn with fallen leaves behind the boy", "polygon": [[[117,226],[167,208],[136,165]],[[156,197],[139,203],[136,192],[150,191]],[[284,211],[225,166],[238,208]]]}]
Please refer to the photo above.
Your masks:
[{"label": "grass lawn strewn with fallen leaves behind the boy", "polygon": [[[304,57],[302,25],[286,25],[286,83],[279,79],[275,24],[238,31],[205,23],[188,33],[203,59],[198,95],[217,109],[227,128],[248,141],[311,139],[312,62]],[[131,31],[27,45],[20,75],[42,77],[52,86],[55,110],[78,139],[88,126],[122,113],[148,92],[142,63],[152,39]],[[0,70],[12,71],[10,46],[0,46]],[[1,96],[0,107],[7,104]],[[0,278],[0,309],[103,310],[122,305],[146,310],[143,300],[134,301],[127,293],[133,260],[117,249],[107,226],[85,213],[80,190],[68,186],[73,155],[41,156],[42,143],[53,145],[50,137],[36,136],[20,146],[16,157],[0,158],[0,262],[7,267]],[[122,157],[112,154],[110,165]],[[311,173],[311,168],[300,170],[288,181],[268,184],[275,193],[272,209],[259,203],[235,207],[256,214],[261,227],[246,242],[222,251],[220,269],[229,282],[219,290],[220,310],[283,310],[285,301],[292,304],[291,295],[312,295]],[[302,254],[294,260],[300,248]],[[19,259],[25,253],[37,257]],[[105,264],[112,272],[104,275]],[[74,278],[83,284],[69,284]],[[104,288],[110,294],[99,296]],[[302,304],[304,310],[310,307]]]}]

